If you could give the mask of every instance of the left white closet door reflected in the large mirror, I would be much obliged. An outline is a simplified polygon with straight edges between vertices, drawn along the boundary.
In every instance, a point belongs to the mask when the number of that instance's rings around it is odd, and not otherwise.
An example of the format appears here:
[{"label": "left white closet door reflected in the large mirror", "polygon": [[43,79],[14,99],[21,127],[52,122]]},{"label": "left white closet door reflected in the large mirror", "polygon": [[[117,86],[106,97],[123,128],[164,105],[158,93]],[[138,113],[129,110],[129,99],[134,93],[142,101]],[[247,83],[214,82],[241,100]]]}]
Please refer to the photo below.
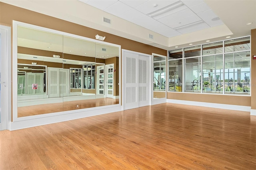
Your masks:
[{"label": "left white closet door reflected in the large mirror", "polygon": [[60,79],[58,68],[48,68],[49,97],[60,97]]}]

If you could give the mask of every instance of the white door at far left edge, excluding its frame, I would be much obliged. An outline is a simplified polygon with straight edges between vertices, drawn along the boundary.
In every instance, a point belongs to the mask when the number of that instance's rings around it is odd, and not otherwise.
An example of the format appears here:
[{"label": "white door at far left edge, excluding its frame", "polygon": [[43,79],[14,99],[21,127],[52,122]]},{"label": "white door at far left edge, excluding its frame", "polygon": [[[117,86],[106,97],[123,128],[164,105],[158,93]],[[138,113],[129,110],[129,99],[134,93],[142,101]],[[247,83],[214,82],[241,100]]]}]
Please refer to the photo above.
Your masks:
[{"label": "white door at far left edge, excluding its frame", "polygon": [[[2,26],[1,26],[2,27]],[[3,28],[3,27],[2,27]],[[7,107],[8,107],[8,97],[7,97],[7,30],[0,29],[0,130],[7,129]]]}]

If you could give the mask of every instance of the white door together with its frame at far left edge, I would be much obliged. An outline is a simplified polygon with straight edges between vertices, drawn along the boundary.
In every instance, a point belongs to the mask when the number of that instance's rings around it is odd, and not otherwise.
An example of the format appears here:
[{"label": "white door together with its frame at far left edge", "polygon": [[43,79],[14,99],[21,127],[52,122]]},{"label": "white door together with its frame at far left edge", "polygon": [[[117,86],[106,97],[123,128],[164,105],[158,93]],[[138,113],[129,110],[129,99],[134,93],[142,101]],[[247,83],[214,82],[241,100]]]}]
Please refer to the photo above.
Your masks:
[{"label": "white door together with its frame at far left edge", "polygon": [[[12,88],[12,65],[11,65],[11,27],[0,25],[0,32],[5,32],[4,37],[1,36],[1,41],[4,41],[6,46],[2,47],[1,43],[1,53],[4,52],[6,55],[1,55],[1,72],[3,70],[6,74],[2,74],[1,81],[5,83],[1,83],[1,86],[4,87],[4,91],[1,91],[1,123],[0,130],[10,130],[10,122],[12,120],[12,105],[11,105],[11,88]],[[4,38],[4,40],[3,40]],[[2,51],[4,50],[4,51]]]}]

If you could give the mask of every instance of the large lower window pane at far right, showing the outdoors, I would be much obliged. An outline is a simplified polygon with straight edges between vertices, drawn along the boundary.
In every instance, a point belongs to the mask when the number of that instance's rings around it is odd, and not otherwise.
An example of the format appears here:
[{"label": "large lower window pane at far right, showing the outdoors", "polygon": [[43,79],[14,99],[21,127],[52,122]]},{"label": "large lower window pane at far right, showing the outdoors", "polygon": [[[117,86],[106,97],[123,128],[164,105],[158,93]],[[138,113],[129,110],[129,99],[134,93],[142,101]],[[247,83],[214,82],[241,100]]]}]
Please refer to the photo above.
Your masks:
[{"label": "large lower window pane at far right, showing the outdoors", "polygon": [[225,54],[225,94],[250,95],[250,53]]}]

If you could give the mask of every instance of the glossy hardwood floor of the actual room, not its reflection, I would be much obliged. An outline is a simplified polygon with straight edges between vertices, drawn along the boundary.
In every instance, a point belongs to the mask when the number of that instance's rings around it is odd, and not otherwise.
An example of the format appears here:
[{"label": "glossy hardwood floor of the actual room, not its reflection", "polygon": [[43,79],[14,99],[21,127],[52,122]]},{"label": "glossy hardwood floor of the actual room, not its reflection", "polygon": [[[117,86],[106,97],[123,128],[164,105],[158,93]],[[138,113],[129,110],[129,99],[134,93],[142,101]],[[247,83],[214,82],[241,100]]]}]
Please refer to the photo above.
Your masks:
[{"label": "glossy hardwood floor of the actual room, not its reflection", "polygon": [[0,131],[1,170],[256,169],[256,117],[164,103]]}]

